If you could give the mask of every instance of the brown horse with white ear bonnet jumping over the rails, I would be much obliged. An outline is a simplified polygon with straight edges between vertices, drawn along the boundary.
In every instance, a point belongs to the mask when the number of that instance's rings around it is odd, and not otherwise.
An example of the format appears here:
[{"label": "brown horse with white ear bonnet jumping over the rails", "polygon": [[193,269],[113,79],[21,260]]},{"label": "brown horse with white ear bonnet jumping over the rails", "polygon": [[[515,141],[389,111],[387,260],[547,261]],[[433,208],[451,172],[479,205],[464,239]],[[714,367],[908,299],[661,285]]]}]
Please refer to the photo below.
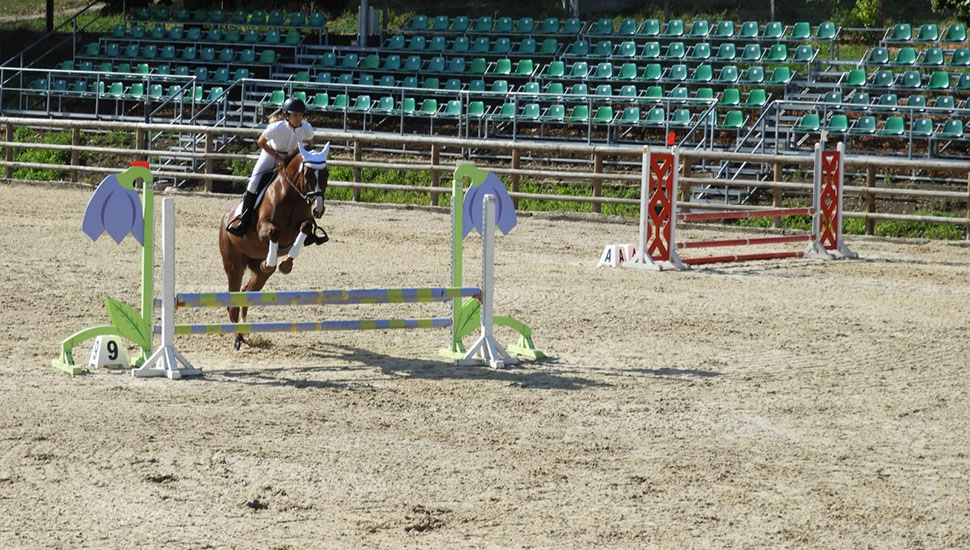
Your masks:
[{"label": "brown horse with white ear bonnet jumping over the rails", "polygon": [[[237,292],[242,285],[246,268],[252,272],[244,292],[256,292],[277,270],[279,254],[287,254],[279,264],[284,274],[293,269],[293,260],[304,245],[323,244],[329,240],[326,231],[316,219],[326,210],[324,195],[330,172],[327,169],[327,153],[330,143],[321,152],[309,152],[300,145],[283,170],[266,188],[257,206],[255,222],[250,223],[242,237],[236,237],[225,227],[237,216],[239,206],[234,206],[222,217],[219,226],[219,252],[222,268],[229,282],[229,292]],[[229,321],[238,323],[240,313],[246,322],[246,307],[230,307]],[[233,347],[239,349],[245,342],[237,333]]]}]

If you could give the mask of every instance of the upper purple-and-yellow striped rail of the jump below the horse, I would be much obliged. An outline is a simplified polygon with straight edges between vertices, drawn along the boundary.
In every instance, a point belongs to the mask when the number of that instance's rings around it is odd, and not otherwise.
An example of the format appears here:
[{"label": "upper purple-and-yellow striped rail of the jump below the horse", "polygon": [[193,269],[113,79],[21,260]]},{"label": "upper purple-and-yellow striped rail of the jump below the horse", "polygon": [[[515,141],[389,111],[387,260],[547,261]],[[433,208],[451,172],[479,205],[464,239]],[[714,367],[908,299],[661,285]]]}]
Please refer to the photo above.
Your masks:
[{"label": "upper purple-and-yellow striped rail of the jump below the horse", "polygon": [[[202,292],[175,295],[177,308],[407,304],[447,302],[482,295],[478,287],[293,290],[278,292]],[[155,299],[155,307],[162,299]]]}]

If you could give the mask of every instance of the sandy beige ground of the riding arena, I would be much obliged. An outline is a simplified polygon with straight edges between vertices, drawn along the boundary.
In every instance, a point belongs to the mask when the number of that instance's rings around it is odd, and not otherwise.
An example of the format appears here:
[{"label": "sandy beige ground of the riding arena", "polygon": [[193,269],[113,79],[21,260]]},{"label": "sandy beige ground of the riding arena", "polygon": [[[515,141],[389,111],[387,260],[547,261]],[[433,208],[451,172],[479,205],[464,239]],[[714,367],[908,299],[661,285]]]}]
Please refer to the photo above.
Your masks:
[{"label": "sandy beige ground of the riding arena", "polygon": [[[71,377],[59,342],[139,303],[137,243],[80,231],[90,195],[0,187],[0,548],[970,548],[965,243],[657,274],[596,268],[633,220],[521,216],[496,311],[547,360],[456,368],[445,330],[192,336],[203,377]],[[180,291],[225,289],[231,202],[176,195]],[[324,220],[270,289],[448,283],[447,212]],[[447,311],[323,309],[250,319]]]}]

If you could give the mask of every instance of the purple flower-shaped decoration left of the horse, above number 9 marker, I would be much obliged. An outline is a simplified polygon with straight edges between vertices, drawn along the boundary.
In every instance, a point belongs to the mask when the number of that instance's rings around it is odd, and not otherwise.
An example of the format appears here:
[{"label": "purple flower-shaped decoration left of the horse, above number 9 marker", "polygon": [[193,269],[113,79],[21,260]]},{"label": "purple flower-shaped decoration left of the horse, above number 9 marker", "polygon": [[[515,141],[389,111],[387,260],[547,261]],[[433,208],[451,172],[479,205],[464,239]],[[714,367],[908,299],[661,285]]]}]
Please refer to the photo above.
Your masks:
[{"label": "purple flower-shaped decoration left of the horse, above number 9 marker", "polygon": [[115,174],[104,178],[84,210],[81,230],[93,241],[107,231],[119,244],[125,235],[131,233],[144,246],[145,224],[138,191],[130,184],[122,185]]}]

